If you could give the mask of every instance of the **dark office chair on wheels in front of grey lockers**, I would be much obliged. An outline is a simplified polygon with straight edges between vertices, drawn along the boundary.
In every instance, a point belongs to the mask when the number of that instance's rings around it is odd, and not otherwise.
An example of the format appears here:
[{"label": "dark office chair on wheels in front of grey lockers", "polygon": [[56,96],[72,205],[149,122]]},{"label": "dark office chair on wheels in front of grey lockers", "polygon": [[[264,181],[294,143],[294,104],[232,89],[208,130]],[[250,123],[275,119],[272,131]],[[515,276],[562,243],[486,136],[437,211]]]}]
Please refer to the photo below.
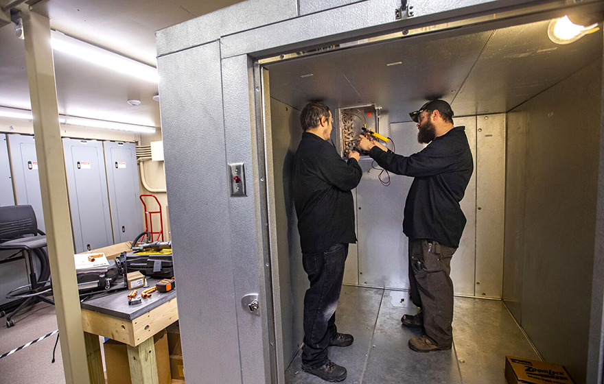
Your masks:
[{"label": "dark office chair on wheels in front of grey lockers", "polygon": [[[45,246],[46,235],[41,230],[38,230],[38,221],[36,221],[36,213],[34,213],[32,206],[0,206],[0,250],[19,251],[16,254],[26,251],[30,267],[30,284],[13,289],[6,296],[6,298],[25,299],[19,307],[6,317],[7,328],[14,326],[12,317],[30,304],[47,302],[54,305],[54,302],[43,296],[52,290],[49,284],[47,284],[48,282],[45,281],[50,275],[48,255],[43,249]],[[42,272],[39,278],[36,276],[34,254],[36,254],[42,265]]]}]

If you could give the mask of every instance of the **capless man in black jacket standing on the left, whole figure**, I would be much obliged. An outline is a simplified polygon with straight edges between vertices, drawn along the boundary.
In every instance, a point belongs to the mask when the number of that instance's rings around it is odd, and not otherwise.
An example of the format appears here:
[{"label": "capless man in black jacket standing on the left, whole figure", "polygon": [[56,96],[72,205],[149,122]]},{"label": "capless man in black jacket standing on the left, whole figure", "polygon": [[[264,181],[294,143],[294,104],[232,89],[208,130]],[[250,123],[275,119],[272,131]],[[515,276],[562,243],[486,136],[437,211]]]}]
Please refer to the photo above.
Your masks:
[{"label": "capless man in black jacket standing on the left, whole figure", "polygon": [[352,335],[338,333],[340,298],[348,244],[356,243],[351,189],[361,180],[358,152],[343,160],[329,136],[332,112],[309,103],[300,121],[304,133],[294,156],[294,204],[302,263],[310,281],[304,296],[302,369],[326,381],[346,379],[346,368],[327,357],[328,346],[349,346]]}]

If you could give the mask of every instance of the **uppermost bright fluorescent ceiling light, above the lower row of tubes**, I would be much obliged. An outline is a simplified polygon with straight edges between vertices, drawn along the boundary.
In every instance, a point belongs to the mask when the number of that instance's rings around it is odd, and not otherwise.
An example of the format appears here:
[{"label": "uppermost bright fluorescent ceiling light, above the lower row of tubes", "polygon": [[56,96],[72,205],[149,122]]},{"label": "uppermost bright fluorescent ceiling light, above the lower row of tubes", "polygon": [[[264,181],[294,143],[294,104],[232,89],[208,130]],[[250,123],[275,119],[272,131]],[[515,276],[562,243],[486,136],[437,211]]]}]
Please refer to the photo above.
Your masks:
[{"label": "uppermost bright fluorescent ceiling light, above the lower row of tubes", "polygon": [[52,49],[56,51],[67,53],[68,55],[112,69],[113,71],[137,77],[141,80],[146,80],[155,84],[158,82],[156,68],[120,56],[117,53],[107,51],[106,49],[96,47],[95,45],[84,43],[81,40],[72,38],[60,32],[51,32],[51,45]]}]

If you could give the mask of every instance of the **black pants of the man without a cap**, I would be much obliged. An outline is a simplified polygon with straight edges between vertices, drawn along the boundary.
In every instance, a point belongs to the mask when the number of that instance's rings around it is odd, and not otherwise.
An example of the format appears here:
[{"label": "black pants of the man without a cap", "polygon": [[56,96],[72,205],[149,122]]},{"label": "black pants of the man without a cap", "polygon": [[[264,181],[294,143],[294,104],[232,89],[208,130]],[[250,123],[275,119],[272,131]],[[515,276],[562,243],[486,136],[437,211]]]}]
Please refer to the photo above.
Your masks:
[{"label": "black pants of the man without a cap", "polygon": [[348,244],[324,252],[302,254],[310,288],[304,296],[304,346],[302,365],[314,370],[327,362],[327,347],[336,337],[336,308],[342,289]]}]

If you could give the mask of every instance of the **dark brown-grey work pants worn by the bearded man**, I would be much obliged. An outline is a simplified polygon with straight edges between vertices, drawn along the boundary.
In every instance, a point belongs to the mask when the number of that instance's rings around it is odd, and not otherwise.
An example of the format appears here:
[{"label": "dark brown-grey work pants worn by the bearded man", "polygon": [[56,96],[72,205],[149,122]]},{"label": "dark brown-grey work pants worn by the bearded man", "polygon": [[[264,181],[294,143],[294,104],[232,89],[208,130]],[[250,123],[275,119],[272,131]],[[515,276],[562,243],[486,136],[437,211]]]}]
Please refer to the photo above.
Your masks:
[{"label": "dark brown-grey work pants worn by the bearded man", "polygon": [[411,300],[423,312],[423,328],[437,346],[453,342],[451,259],[457,248],[430,239],[409,239]]}]

